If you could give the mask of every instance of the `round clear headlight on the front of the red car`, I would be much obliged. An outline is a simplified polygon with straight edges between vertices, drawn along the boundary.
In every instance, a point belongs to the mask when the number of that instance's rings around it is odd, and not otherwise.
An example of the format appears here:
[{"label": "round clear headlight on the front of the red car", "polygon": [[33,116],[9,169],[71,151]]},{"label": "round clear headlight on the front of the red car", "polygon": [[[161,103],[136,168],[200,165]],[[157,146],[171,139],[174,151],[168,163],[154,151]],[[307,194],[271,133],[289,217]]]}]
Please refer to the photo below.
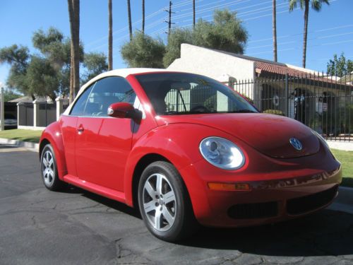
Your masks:
[{"label": "round clear headlight on the front of the red car", "polygon": [[237,170],[245,163],[244,154],[231,141],[208,137],[200,143],[200,152],[208,163],[224,170]]}]

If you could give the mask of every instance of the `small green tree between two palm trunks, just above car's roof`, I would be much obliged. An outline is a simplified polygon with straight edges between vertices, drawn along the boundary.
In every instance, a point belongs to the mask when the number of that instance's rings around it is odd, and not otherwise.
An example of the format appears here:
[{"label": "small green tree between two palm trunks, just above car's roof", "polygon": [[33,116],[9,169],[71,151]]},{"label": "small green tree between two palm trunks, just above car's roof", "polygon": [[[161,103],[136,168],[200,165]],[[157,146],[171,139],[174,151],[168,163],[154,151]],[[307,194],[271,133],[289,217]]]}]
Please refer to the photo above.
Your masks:
[{"label": "small green tree between two palm trunks, just above car's roof", "polygon": [[85,54],[83,60],[85,71],[81,77],[81,83],[86,83],[95,76],[108,70],[107,57],[103,53],[90,52]]}]

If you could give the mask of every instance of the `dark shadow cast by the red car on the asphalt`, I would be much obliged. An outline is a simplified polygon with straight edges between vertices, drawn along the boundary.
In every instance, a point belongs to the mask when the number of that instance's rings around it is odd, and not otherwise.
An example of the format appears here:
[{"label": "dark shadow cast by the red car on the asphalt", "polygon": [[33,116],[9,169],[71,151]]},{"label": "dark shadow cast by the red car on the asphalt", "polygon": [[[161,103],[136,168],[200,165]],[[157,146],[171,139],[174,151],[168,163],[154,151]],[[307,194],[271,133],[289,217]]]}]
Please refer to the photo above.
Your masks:
[{"label": "dark shadow cast by the red car on the asphalt", "polygon": [[[116,211],[141,218],[136,209],[83,189],[69,186],[64,192],[82,194]],[[273,225],[200,228],[191,238],[177,244],[203,249],[233,249],[268,256],[311,257],[352,255],[352,242],[353,215],[323,209],[309,216]]]}]

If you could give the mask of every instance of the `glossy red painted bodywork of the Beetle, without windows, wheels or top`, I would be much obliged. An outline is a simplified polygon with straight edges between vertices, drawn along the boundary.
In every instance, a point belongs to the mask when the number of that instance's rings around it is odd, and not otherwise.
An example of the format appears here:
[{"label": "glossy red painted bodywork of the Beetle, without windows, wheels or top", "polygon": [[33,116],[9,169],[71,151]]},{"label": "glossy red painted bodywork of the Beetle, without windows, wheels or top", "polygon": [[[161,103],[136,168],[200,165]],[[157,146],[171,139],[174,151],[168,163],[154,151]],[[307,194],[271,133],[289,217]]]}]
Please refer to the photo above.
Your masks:
[{"label": "glossy red painted bodywork of the Beetle, without windows, wheels or top", "polygon": [[[146,155],[157,154],[179,170],[198,222],[211,226],[292,218],[285,211],[287,199],[316,194],[341,181],[340,163],[300,122],[256,113],[156,116],[135,76],[126,80],[144,106],[144,119],[62,115],[44,130],[40,147],[52,143],[61,180],[136,206],[136,166]],[[236,143],[245,155],[244,167],[221,170],[210,165],[199,151],[209,136]],[[303,143],[302,151],[289,145],[291,137]],[[243,182],[251,192],[210,190],[208,182]],[[278,216],[234,220],[227,215],[234,204],[266,201],[278,202]]]}]

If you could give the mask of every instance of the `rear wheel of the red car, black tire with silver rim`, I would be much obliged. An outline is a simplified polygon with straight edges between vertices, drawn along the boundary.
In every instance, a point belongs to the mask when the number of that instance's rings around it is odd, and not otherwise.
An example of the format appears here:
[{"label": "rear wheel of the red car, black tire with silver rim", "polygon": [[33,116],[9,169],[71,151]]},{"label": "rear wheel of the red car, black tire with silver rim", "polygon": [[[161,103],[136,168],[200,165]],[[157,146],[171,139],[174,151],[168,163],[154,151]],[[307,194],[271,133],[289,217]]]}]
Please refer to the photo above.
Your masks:
[{"label": "rear wheel of the red car, black tire with silver rim", "polygon": [[64,182],[58,177],[56,158],[51,144],[44,146],[40,156],[40,172],[44,186],[51,191],[59,191],[64,188]]}]

